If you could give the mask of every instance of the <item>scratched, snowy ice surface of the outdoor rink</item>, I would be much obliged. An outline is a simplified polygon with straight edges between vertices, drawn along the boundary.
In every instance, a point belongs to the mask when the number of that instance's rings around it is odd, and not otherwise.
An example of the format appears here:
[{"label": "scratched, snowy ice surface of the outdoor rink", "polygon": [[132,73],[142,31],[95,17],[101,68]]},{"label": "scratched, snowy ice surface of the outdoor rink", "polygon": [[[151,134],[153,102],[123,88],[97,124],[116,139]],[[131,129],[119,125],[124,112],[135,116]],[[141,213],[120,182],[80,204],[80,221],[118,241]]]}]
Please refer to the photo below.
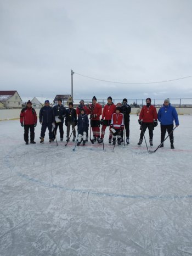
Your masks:
[{"label": "scratched, snowy ice surface of the outdoor rink", "polygon": [[[179,116],[176,149],[167,140],[152,154],[137,146],[137,120],[114,152],[109,132],[105,151],[72,151],[48,132],[40,144],[39,123],[26,146],[19,120],[1,121],[0,255],[192,255],[192,116]],[[160,125],[150,149],[159,143]]]}]

